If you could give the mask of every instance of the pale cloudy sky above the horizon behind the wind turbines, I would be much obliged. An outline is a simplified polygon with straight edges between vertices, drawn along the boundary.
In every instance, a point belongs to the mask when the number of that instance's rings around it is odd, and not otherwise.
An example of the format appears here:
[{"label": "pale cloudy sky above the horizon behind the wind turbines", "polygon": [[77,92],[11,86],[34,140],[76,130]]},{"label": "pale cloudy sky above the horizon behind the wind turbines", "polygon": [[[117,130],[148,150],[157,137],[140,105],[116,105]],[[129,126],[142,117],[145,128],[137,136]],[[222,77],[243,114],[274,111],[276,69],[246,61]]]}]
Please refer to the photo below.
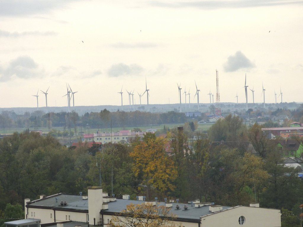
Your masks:
[{"label": "pale cloudy sky above the horizon behind the wind turbines", "polygon": [[[5,0],[0,107],[303,102],[303,1]],[[263,86],[263,88],[262,88]],[[250,90],[251,89],[251,90]],[[186,96],[185,93],[186,92]],[[190,95],[188,95],[188,93]],[[147,104],[147,93],[141,104]],[[214,96],[216,99],[216,95]],[[216,102],[216,100],[215,100]],[[71,106],[72,106],[71,100]]]}]

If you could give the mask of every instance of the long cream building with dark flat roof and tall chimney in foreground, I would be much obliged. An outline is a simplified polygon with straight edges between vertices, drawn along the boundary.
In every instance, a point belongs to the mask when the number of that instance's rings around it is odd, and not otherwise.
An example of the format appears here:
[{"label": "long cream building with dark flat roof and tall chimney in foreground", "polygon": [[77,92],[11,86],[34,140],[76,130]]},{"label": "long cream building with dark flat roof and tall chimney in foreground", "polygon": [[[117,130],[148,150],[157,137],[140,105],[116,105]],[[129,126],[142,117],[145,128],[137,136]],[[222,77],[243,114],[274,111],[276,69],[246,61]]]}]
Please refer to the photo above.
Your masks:
[{"label": "long cream building with dark flat roof and tall chimney in foreground", "polygon": [[[40,199],[33,201],[25,199],[25,219],[39,219],[40,224],[44,226],[48,223],[66,221],[104,226],[111,222],[113,215],[126,209],[127,205],[146,203],[142,200],[130,200],[129,196],[123,198],[109,197],[102,191],[102,187],[89,187],[88,196],[59,193],[47,197],[40,196]],[[169,207],[170,212],[176,216],[173,221],[177,226],[281,226],[280,210],[260,208],[258,203],[235,207],[216,206],[213,203],[200,203],[200,201],[190,204],[178,203],[177,200],[152,203],[154,206]],[[9,225],[8,222],[6,224]]]}]

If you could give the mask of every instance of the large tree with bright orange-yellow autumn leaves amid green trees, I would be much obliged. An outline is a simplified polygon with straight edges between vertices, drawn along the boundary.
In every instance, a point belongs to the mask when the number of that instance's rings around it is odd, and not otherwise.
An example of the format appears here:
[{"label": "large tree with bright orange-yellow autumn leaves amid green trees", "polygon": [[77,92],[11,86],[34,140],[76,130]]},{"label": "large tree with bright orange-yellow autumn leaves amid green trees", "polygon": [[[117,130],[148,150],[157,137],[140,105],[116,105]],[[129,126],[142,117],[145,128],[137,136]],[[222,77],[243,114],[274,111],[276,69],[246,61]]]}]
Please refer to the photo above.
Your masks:
[{"label": "large tree with bright orange-yellow autumn leaves amid green trees", "polygon": [[155,188],[158,196],[167,196],[175,190],[177,170],[174,162],[165,153],[164,138],[147,136],[135,143],[130,156],[134,159],[135,176]]}]

